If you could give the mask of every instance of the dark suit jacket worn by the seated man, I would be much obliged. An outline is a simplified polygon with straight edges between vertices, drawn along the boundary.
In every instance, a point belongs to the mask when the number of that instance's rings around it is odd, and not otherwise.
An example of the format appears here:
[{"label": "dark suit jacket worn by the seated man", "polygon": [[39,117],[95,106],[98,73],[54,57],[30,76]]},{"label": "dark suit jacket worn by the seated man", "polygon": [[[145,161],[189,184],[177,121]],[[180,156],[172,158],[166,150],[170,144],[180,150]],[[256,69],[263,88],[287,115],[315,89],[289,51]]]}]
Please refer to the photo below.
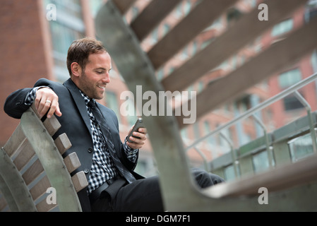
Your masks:
[{"label": "dark suit jacket worn by the seated man", "polygon": [[[71,141],[71,148],[66,151],[65,156],[69,153],[76,152],[80,160],[81,166],[76,169],[72,174],[76,172],[84,171],[88,179],[90,174],[90,167],[92,165],[92,136],[90,129],[90,118],[86,109],[83,97],[80,92],[69,78],[64,84],[49,81],[45,78],[41,78],[34,87],[45,85],[52,88],[56,95],[59,96],[59,107],[61,109],[62,116],[56,117],[60,124],[61,129],[56,132],[53,138],[56,138],[61,133],[66,133]],[[25,105],[25,97],[32,90],[32,88],[24,88],[17,90],[8,96],[4,105],[4,111],[11,117],[20,119],[23,112],[28,109],[29,106]],[[123,144],[119,136],[119,124],[116,114],[112,109],[109,109],[103,105],[98,104],[104,118],[107,120],[110,132],[112,133],[112,139],[114,141],[114,147],[116,154],[119,156],[121,162],[126,166],[128,170],[136,177],[136,179],[143,178],[140,175],[133,172],[136,167],[136,163],[128,161],[124,154]],[[65,157],[64,156],[64,157]],[[136,161],[137,162],[137,161]],[[83,211],[90,211],[90,202],[87,194],[87,188],[78,192],[78,198],[80,200]]]}]

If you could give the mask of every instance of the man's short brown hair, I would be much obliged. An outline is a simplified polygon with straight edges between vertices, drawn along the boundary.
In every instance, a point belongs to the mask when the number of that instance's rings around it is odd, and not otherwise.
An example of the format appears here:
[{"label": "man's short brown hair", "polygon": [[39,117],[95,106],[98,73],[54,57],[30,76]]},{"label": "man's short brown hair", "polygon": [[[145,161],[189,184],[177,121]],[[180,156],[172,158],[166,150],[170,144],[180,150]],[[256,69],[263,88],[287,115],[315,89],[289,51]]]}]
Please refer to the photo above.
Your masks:
[{"label": "man's short brown hair", "polygon": [[84,37],[80,40],[73,41],[67,53],[67,69],[69,75],[72,75],[71,64],[73,64],[73,62],[78,63],[81,69],[85,71],[89,55],[102,52],[107,52],[102,42],[92,37]]}]

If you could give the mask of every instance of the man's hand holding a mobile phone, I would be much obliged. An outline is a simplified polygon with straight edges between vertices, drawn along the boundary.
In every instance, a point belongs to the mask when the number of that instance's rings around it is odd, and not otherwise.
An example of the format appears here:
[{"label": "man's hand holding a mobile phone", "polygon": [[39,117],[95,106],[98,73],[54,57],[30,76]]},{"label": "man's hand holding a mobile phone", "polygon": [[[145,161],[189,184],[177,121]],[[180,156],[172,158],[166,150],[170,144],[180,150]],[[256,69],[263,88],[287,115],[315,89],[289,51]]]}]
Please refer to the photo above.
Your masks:
[{"label": "man's hand holding a mobile phone", "polygon": [[128,132],[128,141],[126,144],[133,149],[142,148],[146,140],[147,130],[143,124],[143,120],[138,118],[136,124]]}]

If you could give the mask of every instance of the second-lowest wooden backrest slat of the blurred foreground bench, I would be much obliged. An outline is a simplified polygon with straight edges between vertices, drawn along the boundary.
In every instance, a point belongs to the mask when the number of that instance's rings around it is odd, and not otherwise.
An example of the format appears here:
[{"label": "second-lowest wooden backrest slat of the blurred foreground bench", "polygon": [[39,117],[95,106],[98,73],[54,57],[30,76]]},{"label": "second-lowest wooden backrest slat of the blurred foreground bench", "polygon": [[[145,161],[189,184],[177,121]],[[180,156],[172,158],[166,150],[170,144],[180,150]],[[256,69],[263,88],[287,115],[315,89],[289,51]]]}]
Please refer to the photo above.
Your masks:
[{"label": "second-lowest wooden backrest slat of the blurred foreground bench", "polygon": [[260,11],[254,9],[243,16],[233,28],[163,79],[162,85],[165,90],[172,92],[184,90],[305,3],[303,0],[289,1],[287,4],[285,1],[265,1],[270,9],[268,21],[258,20]]}]

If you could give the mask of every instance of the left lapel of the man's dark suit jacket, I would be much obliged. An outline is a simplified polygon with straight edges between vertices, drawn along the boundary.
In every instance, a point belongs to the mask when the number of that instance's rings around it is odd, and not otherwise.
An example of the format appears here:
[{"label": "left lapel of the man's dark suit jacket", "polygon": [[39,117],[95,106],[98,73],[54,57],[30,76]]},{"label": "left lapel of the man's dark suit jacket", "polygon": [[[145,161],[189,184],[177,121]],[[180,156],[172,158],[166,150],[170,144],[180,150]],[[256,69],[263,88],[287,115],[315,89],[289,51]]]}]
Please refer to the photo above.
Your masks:
[{"label": "left lapel of the man's dark suit jacket", "polygon": [[87,126],[91,134],[92,132],[90,128],[90,118],[87,112],[85,101],[83,100],[83,96],[79,93],[77,86],[75,85],[75,83],[73,83],[73,81],[71,81],[71,78],[68,78],[68,80],[65,81],[63,85],[69,90],[69,92],[73,96],[73,100],[76,102],[78,111],[80,112],[81,117],[83,118],[83,121],[85,121],[85,125]]}]

